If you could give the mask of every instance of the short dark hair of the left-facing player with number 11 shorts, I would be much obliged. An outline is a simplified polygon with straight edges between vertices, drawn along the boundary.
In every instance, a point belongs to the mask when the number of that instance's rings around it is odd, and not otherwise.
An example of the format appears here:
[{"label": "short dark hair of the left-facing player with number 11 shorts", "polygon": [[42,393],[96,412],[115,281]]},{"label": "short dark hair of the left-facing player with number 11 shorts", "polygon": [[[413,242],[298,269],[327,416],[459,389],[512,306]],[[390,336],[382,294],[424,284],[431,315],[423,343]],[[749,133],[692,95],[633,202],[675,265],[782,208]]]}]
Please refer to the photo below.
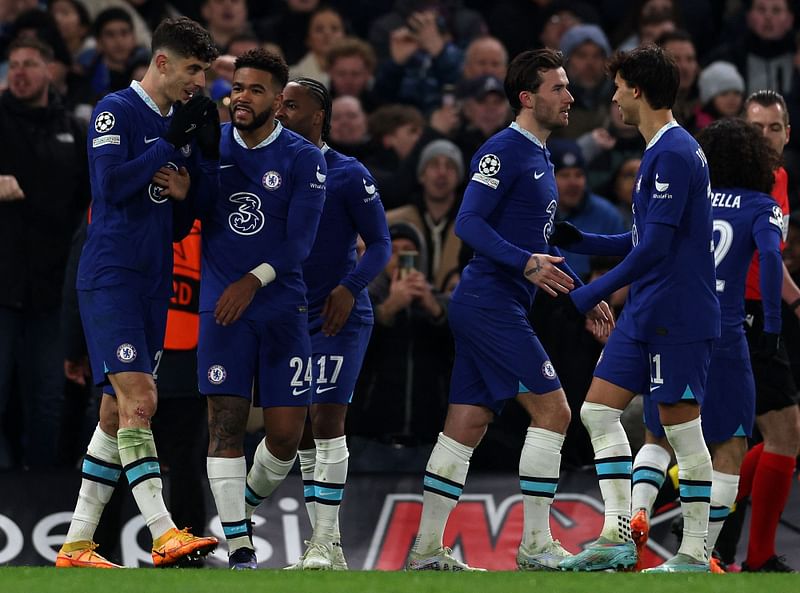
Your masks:
[{"label": "short dark hair of the left-facing player with number 11 shorts", "polygon": [[672,109],[680,85],[680,72],[672,54],[648,43],[629,52],[617,52],[608,64],[628,86],[637,87],[653,109]]}]

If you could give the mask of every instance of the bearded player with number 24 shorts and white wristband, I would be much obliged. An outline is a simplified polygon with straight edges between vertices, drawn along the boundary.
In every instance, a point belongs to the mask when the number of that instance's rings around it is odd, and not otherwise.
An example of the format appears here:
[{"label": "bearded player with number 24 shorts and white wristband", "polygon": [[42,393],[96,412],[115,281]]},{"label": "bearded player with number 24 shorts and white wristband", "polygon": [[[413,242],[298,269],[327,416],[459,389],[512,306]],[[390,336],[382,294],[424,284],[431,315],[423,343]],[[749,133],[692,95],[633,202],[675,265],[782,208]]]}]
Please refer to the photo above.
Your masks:
[{"label": "bearded player with number 24 shorts and white wristband", "polygon": [[[302,262],[327,167],[318,147],[275,120],[288,75],[283,58],[264,50],[237,58],[219,195],[201,208],[198,378],[208,397],[208,480],[234,569],[257,566],[249,519],[292,468],[311,403]],[[267,434],[247,474],[251,400]]]}]

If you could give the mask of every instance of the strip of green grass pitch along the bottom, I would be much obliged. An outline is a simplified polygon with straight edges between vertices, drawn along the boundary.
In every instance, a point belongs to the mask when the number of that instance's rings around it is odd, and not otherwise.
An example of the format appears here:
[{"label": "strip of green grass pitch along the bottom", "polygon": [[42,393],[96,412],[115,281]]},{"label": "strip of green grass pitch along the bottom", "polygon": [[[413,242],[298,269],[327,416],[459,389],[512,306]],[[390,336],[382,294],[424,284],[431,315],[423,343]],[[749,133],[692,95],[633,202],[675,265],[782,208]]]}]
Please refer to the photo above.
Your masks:
[{"label": "strip of green grass pitch along the bottom", "polygon": [[797,593],[800,575],[0,568],[2,593]]}]

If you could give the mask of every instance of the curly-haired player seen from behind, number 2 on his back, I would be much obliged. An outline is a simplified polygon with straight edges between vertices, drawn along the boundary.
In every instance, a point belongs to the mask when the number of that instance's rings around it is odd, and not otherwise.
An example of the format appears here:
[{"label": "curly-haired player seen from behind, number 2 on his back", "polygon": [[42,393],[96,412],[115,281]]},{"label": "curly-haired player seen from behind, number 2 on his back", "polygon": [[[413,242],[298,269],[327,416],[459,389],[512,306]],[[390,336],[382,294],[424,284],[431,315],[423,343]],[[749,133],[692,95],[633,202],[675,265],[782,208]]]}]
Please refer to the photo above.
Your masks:
[{"label": "curly-haired player seen from behind, number 2 on his back", "polygon": [[[722,334],[714,343],[700,412],[714,468],[706,541],[710,557],[736,501],[739,467],[755,414],[755,382],[744,332],[745,279],[758,249],[764,331],[777,336],[781,329],[783,212],[769,195],[777,155],[754,126],[741,119],[722,119],[704,128],[697,141],[711,174],[716,290],[722,310]],[[778,344],[776,340],[763,342],[757,356],[767,358]],[[645,425],[647,444],[633,464],[631,505],[631,527],[639,550],[647,541],[649,513],[670,458],[653,398],[645,406]]]}]

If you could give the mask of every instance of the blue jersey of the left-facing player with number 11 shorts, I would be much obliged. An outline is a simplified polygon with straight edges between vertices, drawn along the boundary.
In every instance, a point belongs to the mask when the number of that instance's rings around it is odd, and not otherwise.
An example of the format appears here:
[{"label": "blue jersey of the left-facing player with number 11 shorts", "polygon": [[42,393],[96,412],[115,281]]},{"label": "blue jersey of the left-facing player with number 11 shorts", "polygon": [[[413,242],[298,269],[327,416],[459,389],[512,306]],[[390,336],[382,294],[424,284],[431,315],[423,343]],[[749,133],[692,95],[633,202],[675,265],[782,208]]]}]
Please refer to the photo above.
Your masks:
[{"label": "blue jersey of the left-facing player with number 11 shorts", "polygon": [[708,164],[694,138],[665,125],[642,156],[633,190],[631,240],[648,223],[675,228],[668,255],[637,278],[617,324],[649,343],[687,343],[720,333]]}]

